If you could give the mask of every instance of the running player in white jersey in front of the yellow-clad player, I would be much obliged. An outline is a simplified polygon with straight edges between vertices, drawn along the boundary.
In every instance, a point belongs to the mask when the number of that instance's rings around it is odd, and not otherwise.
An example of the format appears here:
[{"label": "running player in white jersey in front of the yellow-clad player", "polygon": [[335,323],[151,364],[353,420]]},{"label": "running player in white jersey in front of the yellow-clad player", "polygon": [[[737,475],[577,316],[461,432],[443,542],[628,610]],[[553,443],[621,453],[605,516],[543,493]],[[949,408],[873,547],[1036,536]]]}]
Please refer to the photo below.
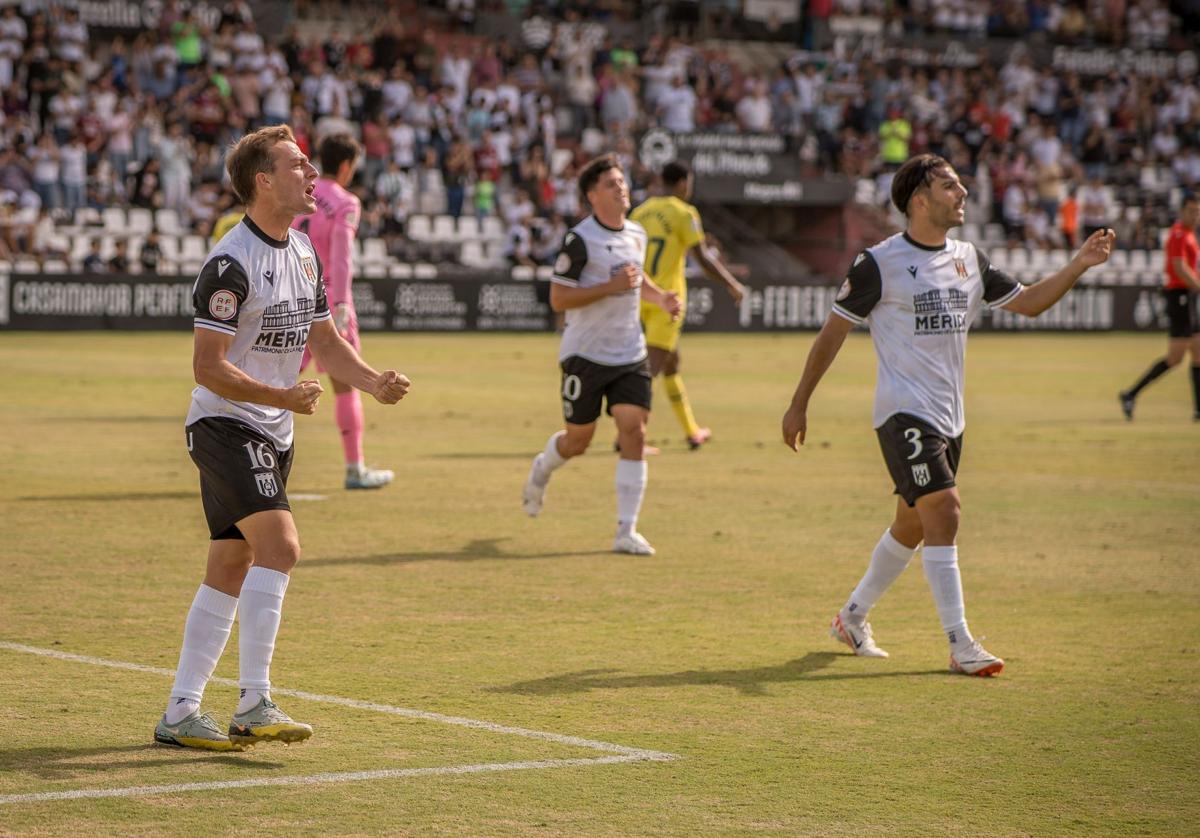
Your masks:
[{"label": "running player in white jersey in front of the yellow-clad player", "polygon": [[617,538],[614,552],[650,556],[654,547],[637,532],[646,493],[646,423],[650,414],[650,369],[642,334],[644,300],[679,317],[673,292],[642,273],[646,231],[625,217],[629,186],[612,155],[580,173],[580,192],[592,215],[572,227],[554,262],[550,305],[565,312],[558,352],[564,430],[551,435],[534,457],[522,492],[528,515],[541,511],[550,475],[583,454],[595,433],[602,402],[617,423]]}]

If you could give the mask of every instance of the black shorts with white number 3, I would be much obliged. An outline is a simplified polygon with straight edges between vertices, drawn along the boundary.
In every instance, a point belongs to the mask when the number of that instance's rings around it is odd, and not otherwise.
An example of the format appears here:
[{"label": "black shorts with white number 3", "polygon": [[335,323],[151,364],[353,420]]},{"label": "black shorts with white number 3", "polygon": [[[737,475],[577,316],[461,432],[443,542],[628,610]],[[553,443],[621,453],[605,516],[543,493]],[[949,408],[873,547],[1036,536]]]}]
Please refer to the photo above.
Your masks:
[{"label": "black shorts with white number 3", "polygon": [[962,435],[948,438],[923,419],[896,413],[875,429],[895,493],[910,507],[923,495],[954,486],[962,454]]}]

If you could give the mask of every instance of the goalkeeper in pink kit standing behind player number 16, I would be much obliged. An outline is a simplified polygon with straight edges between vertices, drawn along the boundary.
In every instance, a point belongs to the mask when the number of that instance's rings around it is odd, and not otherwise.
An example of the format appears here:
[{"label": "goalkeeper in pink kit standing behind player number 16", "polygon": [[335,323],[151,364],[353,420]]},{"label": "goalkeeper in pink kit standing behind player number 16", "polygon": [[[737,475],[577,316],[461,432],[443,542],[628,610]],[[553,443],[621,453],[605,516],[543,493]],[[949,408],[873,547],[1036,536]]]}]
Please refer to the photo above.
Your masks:
[{"label": "goalkeeper in pink kit standing behind player number 16", "polygon": [[[293,227],[306,233],[317,249],[325,269],[325,297],[334,315],[338,334],[359,353],[359,321],[354,313],[353,281],[354,237],[359,228],[361,204],[358,196],[346,188],[354,179],[361,148],[349,134],[330,134],[317,148],[320,178],[317,179],[313,198],[317,211],[300,216]],[[300,369],[308,366],[312,355],[305,349]],[[317,369],[324,372],[320,364]],[[395,477],[385,468],[367,468],[362,462],[362,401],[353,387],[331,378],[334,385],[335,414],[342,432],[342,449],[346,451],[346,487],[379,489]]]}]

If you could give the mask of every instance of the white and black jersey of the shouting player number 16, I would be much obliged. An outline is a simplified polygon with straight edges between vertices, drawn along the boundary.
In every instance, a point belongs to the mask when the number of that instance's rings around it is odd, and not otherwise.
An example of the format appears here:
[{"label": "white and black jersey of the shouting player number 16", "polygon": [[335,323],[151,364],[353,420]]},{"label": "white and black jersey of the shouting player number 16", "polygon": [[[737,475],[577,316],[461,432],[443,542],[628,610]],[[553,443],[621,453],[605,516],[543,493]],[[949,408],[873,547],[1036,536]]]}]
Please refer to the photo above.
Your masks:
[{"label": "white and black jersey of the shouting player number 16", "polygon": [[[246,216],[214,246],[196,280],[196,328],[233,336],[226,359],[270,387],[294,387],[313,321],[329,319],[323,268],[308,237],[287,241],[264,233]],[[192,390],[187,424],[208,417],[238,419],[292,448],[292,411]]]}]

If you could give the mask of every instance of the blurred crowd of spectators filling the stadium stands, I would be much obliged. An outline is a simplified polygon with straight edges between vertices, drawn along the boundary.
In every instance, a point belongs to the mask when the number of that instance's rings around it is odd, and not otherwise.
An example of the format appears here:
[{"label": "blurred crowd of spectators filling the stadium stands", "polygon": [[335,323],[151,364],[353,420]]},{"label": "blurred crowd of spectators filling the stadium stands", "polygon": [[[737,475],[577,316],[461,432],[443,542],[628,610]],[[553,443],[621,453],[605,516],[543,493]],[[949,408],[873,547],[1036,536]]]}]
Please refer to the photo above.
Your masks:
[{"label": "blurred crowd of spectators filling the stadium stands", "polygon": [[[46,231],[86,206],[168,208],[206,235],[233,199],[226,149],[276,122],[310,152],[325,133],[360,138],[360,237],[402,255],[413,215],[494,217],[510,262],[529,265],[580,215],[588,156],[616,150],[644,194],[636,140],[652,126],[782,134],[809,174],[874,181],[881,208],[889,173],[937,151],[974,192],[972,220],[1014,245],[1069,246],[1120,215],[1122,245],[1154,249],[1171,202],[1200,188],[1194,72],[1085,77],[1022,48],[1194,49],[1165,0],[809,0],[796,43],[757,53],[767,61],[737,40],[743,0],[298,2],[298,25],[271,42],[250,4],[220,8],[209,26],[166,0],[157,29],[96,37],[67,4],[4,5],[0,258],[44,256]],[[512,38],[476,31],[497,13],[520,20]],[[634,40],[608,22],[644,25]],[[847,22],[883,42],[1015,47],[913,66],[838,49]]]}]

